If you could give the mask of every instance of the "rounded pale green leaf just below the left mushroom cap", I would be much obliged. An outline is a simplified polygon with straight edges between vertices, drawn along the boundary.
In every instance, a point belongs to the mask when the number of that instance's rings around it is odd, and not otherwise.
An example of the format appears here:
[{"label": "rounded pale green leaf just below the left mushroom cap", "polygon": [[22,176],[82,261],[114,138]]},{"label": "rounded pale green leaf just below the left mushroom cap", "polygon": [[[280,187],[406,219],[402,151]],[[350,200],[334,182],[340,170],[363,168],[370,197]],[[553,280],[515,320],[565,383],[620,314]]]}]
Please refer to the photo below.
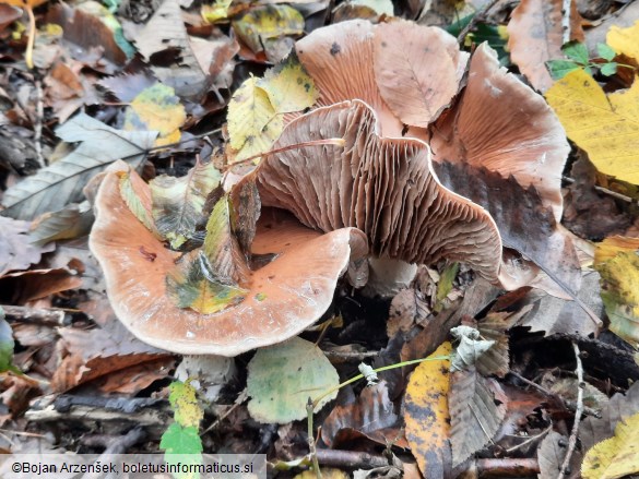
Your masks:
[{"label": "rounded pale green leaf just below the left mushroom cap", "polygon": [[259,349],[248,364],[248,409],[260,422],[280,424],[304,419],[309,398],[323,397],[319,411],[338,395],[338,371],[312,343],[294,337],[269,348]]}]

